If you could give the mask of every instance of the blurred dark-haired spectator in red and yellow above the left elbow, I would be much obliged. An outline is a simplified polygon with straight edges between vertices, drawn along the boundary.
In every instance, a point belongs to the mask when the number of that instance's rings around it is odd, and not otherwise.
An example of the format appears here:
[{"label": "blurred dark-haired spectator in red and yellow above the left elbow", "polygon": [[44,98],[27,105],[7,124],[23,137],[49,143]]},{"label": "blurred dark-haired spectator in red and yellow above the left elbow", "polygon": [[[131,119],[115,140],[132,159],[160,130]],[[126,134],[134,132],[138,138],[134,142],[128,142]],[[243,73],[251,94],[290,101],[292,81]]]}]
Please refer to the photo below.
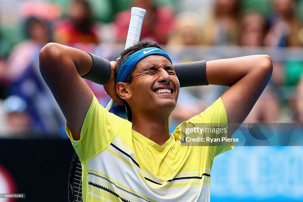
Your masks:
[{"label": "blurred dark-haired spectator in red and yellow above the left elbow", "polygon": [[54,26],[55,41],[61,44],[100,43],[101,26],[92,20],[92,9],[87,0],[71,2],[68,18]]}]

